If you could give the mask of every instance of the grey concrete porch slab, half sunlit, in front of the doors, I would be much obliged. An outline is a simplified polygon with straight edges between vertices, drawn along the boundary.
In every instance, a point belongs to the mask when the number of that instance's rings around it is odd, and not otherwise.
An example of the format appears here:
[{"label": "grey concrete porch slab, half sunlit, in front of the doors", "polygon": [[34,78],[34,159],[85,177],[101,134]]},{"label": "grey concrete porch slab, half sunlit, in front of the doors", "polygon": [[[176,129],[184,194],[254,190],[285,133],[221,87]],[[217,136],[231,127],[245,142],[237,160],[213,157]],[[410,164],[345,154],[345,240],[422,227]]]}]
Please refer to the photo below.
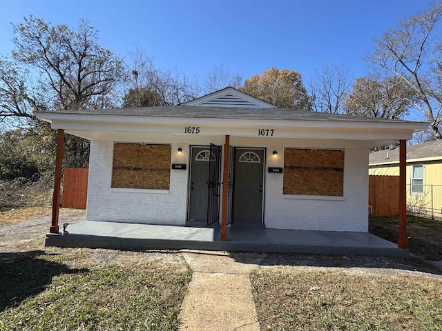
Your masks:
[{"label": "grey concrete porch slab, half sunlit, in front of the doors", "polygon": [[122,250],[225,250],[229,252],[283,252],[354,254],[407,257],[408,250],[367,232],[332,232],[267,229],[234,225],[227,241],[220,241],[220,227],[82,221],[67,228],[69,234],[46,235],[47,246],[109,248]]}]

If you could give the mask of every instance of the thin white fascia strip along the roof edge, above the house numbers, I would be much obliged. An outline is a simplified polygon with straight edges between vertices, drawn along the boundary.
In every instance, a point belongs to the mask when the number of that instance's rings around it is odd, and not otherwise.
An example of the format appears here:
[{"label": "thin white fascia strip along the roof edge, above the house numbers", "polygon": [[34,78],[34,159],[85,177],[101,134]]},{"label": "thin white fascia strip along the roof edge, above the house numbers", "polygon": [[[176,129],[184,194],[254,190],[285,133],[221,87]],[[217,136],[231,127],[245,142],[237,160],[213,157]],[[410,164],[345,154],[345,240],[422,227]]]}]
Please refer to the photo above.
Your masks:
[{"label": "thin white fascia strip along the roof edge, above the house numbers", "polygon": [[[106,126],[106,124],[122,125],[123,123],[137,124],[162,124],[164,126],[186,125],[186,126],[260,126],[269,127],[287,127],[287,128],[346,128],[346,129],[381,129],[381,130],[412,130],[413,132],[426,130],[427,123],[423,122],[377,122],[377,121],[285,121],[285,120],[266,120],[266,119],[213,119],[198,117],[143,117],[129,115],[109,115],[109,114],[68,114],[57,112],[37,113],[37,117],[52,123],[52,128],[63,128],[61,124],[68,122],[76,123],[81,130],[81,126],[87,122],[93,122],[97,126]],[[98,130],[99,128],[97,128]]]}]

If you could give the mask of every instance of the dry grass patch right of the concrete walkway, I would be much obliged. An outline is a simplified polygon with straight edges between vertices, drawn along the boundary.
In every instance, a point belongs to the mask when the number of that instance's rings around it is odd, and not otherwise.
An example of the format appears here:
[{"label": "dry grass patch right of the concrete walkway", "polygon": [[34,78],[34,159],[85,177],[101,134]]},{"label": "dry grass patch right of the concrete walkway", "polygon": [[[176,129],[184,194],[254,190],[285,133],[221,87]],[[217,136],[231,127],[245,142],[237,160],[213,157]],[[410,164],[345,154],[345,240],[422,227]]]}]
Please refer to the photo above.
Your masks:
[{"label": "dry grass patch right of the concrete walkway", "polygon": [[281,267],[250,277],[261,330],[442,330],[442,280]]}]

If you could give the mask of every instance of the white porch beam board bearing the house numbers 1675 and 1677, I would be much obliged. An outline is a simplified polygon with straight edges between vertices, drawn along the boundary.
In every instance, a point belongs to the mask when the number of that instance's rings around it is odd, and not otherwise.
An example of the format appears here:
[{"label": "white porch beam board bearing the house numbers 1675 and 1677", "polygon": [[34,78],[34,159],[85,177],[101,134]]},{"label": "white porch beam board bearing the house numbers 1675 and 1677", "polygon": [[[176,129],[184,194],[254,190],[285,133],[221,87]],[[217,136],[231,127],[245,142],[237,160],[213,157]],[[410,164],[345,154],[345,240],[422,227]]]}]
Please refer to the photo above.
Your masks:
[{"label": "white porch beam board bearing the house numbers 1675 and 1677", "polygon": [[[237,137],[259,137],[260,130],[273,130],[274,138],[296,138],[296,139],[348,139],[348,140],[372,140],[372,141],[398,141],[412,139],[413,130],[403,128],[364,128],[364,127],[330,127],[330,126],[301,126],[302,123],[296,123],[297,126],[271,126],[265,121],[249,121],[249,123],[209,121],[204,123],[200,121],[174,121],[175,123],[164,123],[164,121],[145,121],[124,122],[124,121],[72,121],[66,119],[52,120],[52,128],[64,129],[68,131],[81,131],[85,134],[81,137],[93,139],[94,132],[126,132],[140,134],[177,134],[187,137],[185,128],[188,126],[198,127],[201,136],[224,136],[229,134]],[[281,122],[277,123],[281,124]],[[87,135],[87,137],[86,137]],[[197,134],[194,134],[198,137]],[[374,147],[374,146],[373,146]]]}]

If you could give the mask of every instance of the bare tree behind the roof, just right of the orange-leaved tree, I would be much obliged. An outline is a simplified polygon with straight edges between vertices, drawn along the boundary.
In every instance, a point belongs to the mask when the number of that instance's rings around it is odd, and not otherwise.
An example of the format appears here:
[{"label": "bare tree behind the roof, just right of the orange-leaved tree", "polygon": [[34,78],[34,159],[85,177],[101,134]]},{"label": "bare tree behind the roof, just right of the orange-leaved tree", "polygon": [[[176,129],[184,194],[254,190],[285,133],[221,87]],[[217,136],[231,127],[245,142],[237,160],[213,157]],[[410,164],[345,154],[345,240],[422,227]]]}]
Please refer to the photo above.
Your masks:
[{"label": "bare tree behind the roof, just right of the orange-leaved tree", "polygon": [[341,114],[350,91],[349,70],[343,66],[324,66],[310,78],[310,97],[316,112]]}]

